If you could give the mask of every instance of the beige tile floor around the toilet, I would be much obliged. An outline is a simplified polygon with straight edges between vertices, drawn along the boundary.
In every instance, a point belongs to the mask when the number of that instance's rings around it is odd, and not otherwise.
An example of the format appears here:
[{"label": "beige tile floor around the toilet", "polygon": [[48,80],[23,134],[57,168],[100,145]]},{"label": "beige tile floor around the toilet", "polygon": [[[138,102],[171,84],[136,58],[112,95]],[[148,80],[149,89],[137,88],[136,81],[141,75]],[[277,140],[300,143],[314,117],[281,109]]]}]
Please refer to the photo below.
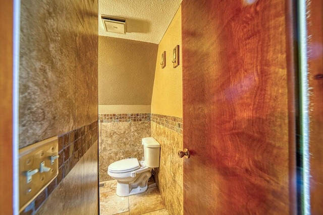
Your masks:
[{"label": "beige tile floor around the toilet", "polygon": [[151,178],[144,193],[120,197],[116,194],[117,181],[102,181],[100,192],[100,215],[168,215],[158,188]]}]

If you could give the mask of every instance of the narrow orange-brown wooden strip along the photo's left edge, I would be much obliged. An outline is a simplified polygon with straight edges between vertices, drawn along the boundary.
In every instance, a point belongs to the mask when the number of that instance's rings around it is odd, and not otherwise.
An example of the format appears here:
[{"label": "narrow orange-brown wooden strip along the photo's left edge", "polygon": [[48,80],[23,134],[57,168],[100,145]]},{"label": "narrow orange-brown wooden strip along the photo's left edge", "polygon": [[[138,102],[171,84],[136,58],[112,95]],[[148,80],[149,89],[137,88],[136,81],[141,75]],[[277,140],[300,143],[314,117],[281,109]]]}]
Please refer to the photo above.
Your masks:
[{"label": "narrow orange-brown wooden strip along the photo's left edge", "polygon": [[0,26],[0,213],[12,214],[13,1],[1,2]]}]

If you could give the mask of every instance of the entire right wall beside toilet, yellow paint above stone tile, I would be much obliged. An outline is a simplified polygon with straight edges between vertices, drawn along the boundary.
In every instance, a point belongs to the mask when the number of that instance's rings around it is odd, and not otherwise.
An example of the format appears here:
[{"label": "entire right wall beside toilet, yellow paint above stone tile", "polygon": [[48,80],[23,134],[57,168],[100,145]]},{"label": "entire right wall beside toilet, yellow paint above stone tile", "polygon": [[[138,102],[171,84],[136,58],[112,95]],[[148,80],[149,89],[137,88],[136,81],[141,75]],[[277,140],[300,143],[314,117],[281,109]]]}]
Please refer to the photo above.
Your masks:
[{"label": "entire right wall beside toilet, yellow paint above stone tile", "polygon": [[[173,68],[173,48],[176,45],[180,45],[180,65]],[[161,146],[160,165],[155,178],[171,214],[183,214],[183,160],[177,156],[177,151],[183,149],[181,48],[180,7],[158,46],[151,100],[151,136]],[[159,64],[163,51],[166,51],[165,68]]]}]

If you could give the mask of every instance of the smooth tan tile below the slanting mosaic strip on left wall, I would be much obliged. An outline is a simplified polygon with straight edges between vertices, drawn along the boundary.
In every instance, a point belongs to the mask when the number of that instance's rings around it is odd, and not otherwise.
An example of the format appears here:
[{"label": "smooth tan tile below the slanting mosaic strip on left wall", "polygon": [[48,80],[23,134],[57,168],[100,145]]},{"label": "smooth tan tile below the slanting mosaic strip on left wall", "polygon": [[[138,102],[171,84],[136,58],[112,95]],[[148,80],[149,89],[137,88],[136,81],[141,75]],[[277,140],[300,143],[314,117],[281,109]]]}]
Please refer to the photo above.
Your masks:
[{"label": "smooth tan tile below the slanting mosaic strip on left wall", "polygon": [[36,214],[98,214],[97,149],[95,141]]}]

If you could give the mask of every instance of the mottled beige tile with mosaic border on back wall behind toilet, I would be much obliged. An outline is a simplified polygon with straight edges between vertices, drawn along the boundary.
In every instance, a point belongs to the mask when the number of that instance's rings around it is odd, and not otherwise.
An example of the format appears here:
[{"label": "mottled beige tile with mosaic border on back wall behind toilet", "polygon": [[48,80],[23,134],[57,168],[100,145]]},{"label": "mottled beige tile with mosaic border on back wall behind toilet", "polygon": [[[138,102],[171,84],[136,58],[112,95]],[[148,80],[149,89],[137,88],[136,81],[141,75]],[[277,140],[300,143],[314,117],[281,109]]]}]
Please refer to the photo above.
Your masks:
[{"label": "mottled beige tile with mosaic border on back wall behind toilet", "polygon": [[150,136],[150,114],[99,114],[99,181],[113,180],[107,167],[118,160],[142,160],[141,139]]}]

